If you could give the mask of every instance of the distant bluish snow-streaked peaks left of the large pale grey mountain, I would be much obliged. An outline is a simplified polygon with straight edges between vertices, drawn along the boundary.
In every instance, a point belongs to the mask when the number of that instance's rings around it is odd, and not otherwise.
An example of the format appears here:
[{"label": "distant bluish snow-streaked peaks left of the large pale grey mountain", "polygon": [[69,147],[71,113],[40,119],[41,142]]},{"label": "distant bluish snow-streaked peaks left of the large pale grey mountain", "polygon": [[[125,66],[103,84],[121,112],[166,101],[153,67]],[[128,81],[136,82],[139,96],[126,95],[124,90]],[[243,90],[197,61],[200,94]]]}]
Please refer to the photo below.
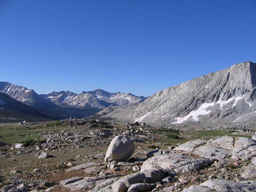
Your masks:
[{"label": "distant bluish snow-streaked peaks left of the large pale grey mountain", "polygon": [[9,82],[0,82],[0,92],[53,119],[69,118],[71,116],[82,118],[93,115],[110,105],[123,106],[144,99],[143,96],[138,97],[131,93],[110,93],[101,89],[89,92],[83,91],[79,94],[61,91],[39,95],[33,89]]}]

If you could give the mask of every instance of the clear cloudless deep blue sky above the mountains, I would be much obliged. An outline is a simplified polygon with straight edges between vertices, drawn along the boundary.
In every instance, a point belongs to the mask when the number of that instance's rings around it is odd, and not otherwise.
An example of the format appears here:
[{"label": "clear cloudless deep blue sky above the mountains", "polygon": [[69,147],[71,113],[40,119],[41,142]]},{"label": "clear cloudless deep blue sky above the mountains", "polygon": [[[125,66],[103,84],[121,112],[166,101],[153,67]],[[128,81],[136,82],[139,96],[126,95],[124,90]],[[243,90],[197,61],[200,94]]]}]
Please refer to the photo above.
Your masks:
[{"label": "clear cloudless deep blue sky above the mountains", "polygon": [[0,81],[149,96],[256,62],[256,1],[0,0]]}]

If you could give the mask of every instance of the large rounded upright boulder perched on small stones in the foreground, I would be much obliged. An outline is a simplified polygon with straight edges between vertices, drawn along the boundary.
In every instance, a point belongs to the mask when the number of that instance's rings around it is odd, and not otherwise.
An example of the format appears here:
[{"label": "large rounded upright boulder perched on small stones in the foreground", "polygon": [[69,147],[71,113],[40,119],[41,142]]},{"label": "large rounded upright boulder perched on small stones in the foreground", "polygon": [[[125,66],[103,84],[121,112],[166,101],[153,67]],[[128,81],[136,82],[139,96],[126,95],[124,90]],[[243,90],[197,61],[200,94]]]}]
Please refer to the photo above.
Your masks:
[{"label": "large rounded upright boulder perched on small stones in the foreground", "polygon": [[126,161],[134,152],[134,145],[127,135],[116,136],[108,147],[105,161]]}]

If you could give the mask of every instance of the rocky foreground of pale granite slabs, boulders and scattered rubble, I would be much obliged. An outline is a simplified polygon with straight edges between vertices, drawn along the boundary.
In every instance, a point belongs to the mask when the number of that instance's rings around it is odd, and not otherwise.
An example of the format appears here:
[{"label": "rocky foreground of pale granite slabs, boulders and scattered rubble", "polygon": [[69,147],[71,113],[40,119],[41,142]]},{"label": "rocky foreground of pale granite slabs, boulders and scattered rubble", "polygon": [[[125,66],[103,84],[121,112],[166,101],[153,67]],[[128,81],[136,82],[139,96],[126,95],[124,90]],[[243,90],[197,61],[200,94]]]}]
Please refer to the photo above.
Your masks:
[{"label": "rocky foreground of pale granite slabs, boulders and scattered rubble", "polygon": [[[93,146],[107,146],[106,153],[88,157],[96,162],[81,162],[76,165],[72,162],[62,163],[59,167],[63,166],[64,170],[61,171],[37,168],[26,175],[19,173],[18,169],[13,170],[12,173],[18,173],[18,176],[9,178],[9,181],[19,182],[10,182],[1,192],[256,191],[256,136],[252,136],[252,139],[236,136],[197,139],[169,146],[168,149],[156,148],[140,153],[135,152],[136,148],[140,148],[146,139],[157,139],[150,132],[139,131],[152,129],[146,124],[130,124],[127,127],[134,129],[122,132],[113,124],[101,121],[71,119],[60,123],[77,126],[76,130],[80,131],[61,134],[46,132],[43,136],[47,138],[45,143],[36,143],[34,147],[18,143],[13,146],[18,151],[2,153],[0,160],[33,153],[36,153],[39,160],[53,159],[54,151],[74,150],[75,153],[76,148]],[[101,129],[86,132],[79,128],[82,124]],[[171,130],[178,132],[170,128]],[[73,158],[79,159],[81,156],[74,155]],[[66,175],[64,180],[47,183],[44,188],[36,183],[22,183],[22,180],[28,180],[32,176],[40,180],[62,177],[63,174]]]}]

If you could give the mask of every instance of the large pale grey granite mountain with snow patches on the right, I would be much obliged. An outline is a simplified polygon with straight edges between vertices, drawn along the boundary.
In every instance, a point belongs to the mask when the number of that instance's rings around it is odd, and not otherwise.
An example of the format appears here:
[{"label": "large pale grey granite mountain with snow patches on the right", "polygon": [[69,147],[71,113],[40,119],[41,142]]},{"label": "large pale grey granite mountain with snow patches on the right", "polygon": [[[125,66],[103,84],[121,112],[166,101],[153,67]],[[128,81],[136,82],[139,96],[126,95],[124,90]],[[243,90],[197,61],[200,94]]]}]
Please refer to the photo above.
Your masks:
[{"label": "large pale grey granite mountain with snow patches on the right", "polygon": [[[169,87],[131,107],[112,107],[102,118],[146,123],[228,123],[256,120],[256,64],[234,64]],[[107,111],[105,109],[105,111]]]}]

